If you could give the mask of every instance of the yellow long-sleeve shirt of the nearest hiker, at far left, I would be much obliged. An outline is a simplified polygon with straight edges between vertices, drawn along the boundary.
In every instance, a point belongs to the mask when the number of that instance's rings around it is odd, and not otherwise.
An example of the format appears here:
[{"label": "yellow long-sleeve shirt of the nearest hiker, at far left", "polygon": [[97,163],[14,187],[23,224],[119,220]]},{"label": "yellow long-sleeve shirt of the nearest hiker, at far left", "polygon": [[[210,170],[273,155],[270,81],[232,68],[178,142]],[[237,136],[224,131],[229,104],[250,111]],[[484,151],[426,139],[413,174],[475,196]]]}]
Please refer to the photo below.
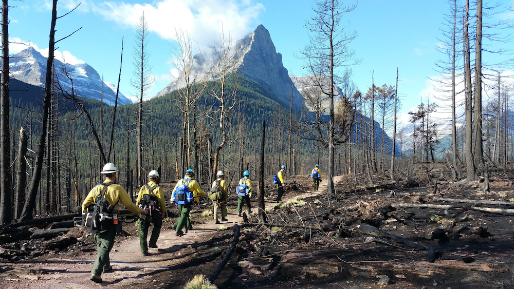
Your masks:
[{"label": "yellow long-sleeve shirt of the nearest hiker, at far left", "polygon": [[[126,190],[122,186],[114,184],[114,181],[112,180],[105,180],[104,183],[113,183],[107,187],[103,197],[107,202],[109,202],[109,204],[115,204],[115,211],[119,210],[118,201],[120,201],[128,210],[132,211],[132,213],[136,213],[138,215],[141,214],[143,210],[132,202],[132,199],[128,196]],[[99,184],[89,191],[89,194],[87,194],[86,199],[82,203],[82,211],[85,211],[89,204],[95,202],[96,196],[100,196],[102,194],[103,187],[104,186],[102,184]]]}]

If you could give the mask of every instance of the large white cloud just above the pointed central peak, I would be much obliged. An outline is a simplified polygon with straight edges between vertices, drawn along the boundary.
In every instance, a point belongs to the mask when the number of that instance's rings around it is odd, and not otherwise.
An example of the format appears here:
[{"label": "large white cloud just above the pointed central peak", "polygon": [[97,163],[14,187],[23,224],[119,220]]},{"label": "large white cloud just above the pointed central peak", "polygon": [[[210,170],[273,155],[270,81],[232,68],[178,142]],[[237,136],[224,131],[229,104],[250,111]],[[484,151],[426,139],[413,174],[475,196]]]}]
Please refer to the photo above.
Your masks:
[{"label": "large white cloud just above the pointed central peak", "polygon": [[222,31],[232,38],[242,38],[255,27],[249,25],[264,11],[264,6],[250,0],[161,0],[153,4],[103,2],[89,5],[121,26],[135,27],[144,11],[149,30],[174,41],[175,31],[191,34],[202,49],[219,40]]}]

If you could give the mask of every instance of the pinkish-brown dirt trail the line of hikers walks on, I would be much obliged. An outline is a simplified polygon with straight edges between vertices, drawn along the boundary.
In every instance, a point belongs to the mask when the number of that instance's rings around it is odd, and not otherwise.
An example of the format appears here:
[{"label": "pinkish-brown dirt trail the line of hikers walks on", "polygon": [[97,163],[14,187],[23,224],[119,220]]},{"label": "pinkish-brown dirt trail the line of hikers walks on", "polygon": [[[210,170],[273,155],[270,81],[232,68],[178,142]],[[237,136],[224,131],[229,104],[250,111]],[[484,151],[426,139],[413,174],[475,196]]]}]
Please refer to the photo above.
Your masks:
[{"label": "pinkish-brown dirt trail the line of hikers walks on", "polygon": [[[334,182],[340,182],[341,177],[335,177]],[[320,183],[319,190],[316,192],[307,192],[302,194],[302,198],[313,197],[326,193],[327,182]],[[234,197],[232,197],[234,198]],[[283,201],[287,202],[295,197],[289,197],[285,194]],[[277,204],[274,201],[266,202],[265,207],[272,207]],[[252,208],[256,211],[256,208]],[[244,211],[244,210],[243,210]],[[229,214],[228,221],[222,224],[215,224],[214,220],[205,224],[194,224],[193,230],[190,230],[182,237],[175,236],[175,231],[171,229],[162,229],[157,241],[158,248],[149,248],[150,256],[143,257],[139,249],[139,238],[137,237],[117,237],[113,250],[111,251],[112,273],[102,274],[103,282],[95,284],[89,280],[91,267],[97,256],[96,251],[86,252],[72,259],[49,258],[45,262],[34,263],[34,260],[22,260],[14,263],[1,262],[0,273],[8,271],[10,268],[39,268],[43,271],[50,271],[50,274],[20,271],[16,273],[17,277],[5,278],[0,276],[0,287],[2,288],[91,288],[102,285],[127,285],[127,284],[144,284],[152,282],[152,274],[172,270],[174,265],[183,262],[189,254],[182,255],[180,249],[187,248],[195,243],[202,243],[211,239],[213,232],[219,225],[225,225],[230,229],[232,225],[242,221],[242,217],[238,217],[237,213]],[[127,226],[134,226],[128,224]],[[54,255],[59,257],[59,255]],[[208,275],[211,272],[206,272]],[[11,275],[12,276],[12,275]],[[29,278],[37,277],[38,280]],[[11,280],[13,279],[13,280]],[[33,278],[35,279],[35,278]],[[164,286],[169,284],[154,284]]]}]

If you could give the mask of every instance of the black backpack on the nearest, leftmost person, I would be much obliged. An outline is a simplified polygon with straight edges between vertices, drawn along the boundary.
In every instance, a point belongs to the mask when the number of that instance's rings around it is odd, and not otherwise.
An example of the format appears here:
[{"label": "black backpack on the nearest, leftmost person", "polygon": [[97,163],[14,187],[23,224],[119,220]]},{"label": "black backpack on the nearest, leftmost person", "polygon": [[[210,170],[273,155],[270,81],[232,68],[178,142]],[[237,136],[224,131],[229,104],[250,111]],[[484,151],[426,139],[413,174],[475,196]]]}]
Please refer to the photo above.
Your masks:
[{"label": "black backpack on the nearest, leftmost person", "polygon": [[114,206],[103,196],[109,185],[114,183],[99,183],[103,185],[100,195],[96,195],[96,202],[89,204],[83,213],[84,225],[87,226],[88,233],[102,234],[111,228],[113,223]]}]

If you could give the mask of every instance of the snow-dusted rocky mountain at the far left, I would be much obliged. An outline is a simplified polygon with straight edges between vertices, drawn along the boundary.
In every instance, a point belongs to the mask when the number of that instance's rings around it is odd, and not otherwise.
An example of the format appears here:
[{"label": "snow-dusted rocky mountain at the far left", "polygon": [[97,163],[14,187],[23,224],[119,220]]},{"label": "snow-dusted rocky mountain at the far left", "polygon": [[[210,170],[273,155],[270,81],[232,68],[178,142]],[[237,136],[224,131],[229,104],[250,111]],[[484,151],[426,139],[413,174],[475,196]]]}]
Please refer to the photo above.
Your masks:
[{"label": "snow-dusted rocky mountain at the far left", "polygon": [[[64,64],[54,60],[56,71],[61,71]],[[16,80],[43,87],[45,85],[47,58],[34,48],[29,47],[9,57],[9,70]],[[102,99],[102,79],[100,74],[86,63],[76,65],[67,64],[67,71],[73,79],[76,93],[80,97],[89,99]],[[59,82],[63,89],[71,90],[71,81],[63,75],[59,76]],[[108,82],[103,83],[103,102],[114,105],[116,88]],[[123,94],[118,94],[118,104],[130,104],[132,101]]]}]

